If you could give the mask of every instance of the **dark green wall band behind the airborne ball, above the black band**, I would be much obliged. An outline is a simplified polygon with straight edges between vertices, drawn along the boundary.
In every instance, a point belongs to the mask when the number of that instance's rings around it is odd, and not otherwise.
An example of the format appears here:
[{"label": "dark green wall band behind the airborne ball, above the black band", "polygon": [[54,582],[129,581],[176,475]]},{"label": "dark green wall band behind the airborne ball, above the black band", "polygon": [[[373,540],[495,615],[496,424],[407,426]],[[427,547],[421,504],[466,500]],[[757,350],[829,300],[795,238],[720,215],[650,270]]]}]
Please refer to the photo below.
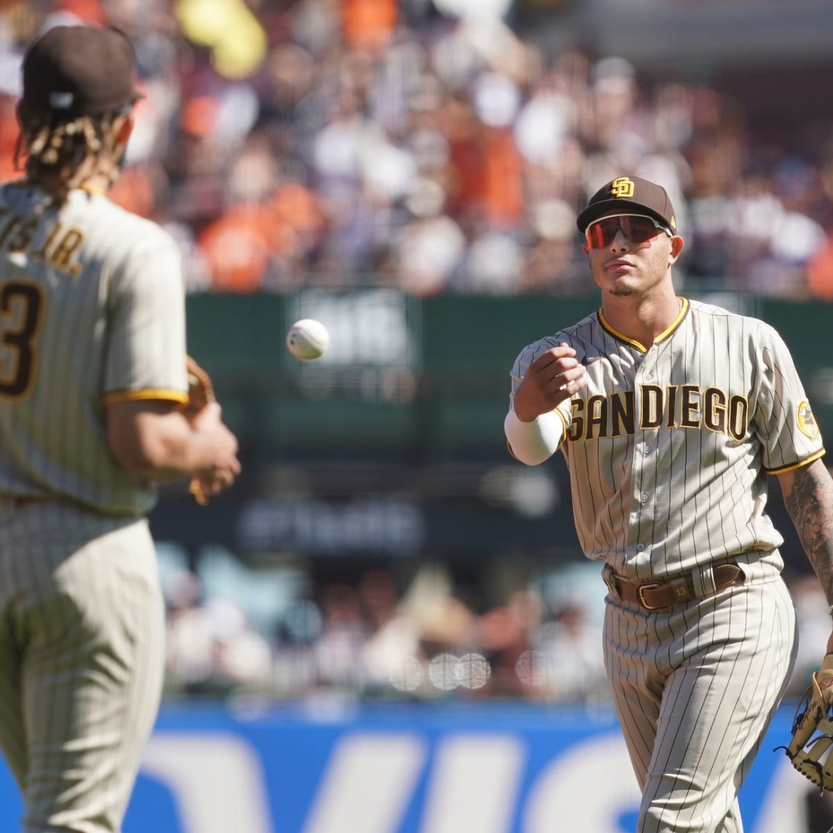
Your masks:
[{"label": "dark green wall band behind the airborne ball, above the black band", "polygon": [[[704,297],[770,322],[833,436],[833,305]],[[188,345],[210,368],[227,419],[264,458],[377,456],[437,462],[503,453],[508,372],[527,342],[592,312],[587,297],[415,298],[391,290],[188,298]],[[298,362],[292,321],[316,317],[327,355]]]}]

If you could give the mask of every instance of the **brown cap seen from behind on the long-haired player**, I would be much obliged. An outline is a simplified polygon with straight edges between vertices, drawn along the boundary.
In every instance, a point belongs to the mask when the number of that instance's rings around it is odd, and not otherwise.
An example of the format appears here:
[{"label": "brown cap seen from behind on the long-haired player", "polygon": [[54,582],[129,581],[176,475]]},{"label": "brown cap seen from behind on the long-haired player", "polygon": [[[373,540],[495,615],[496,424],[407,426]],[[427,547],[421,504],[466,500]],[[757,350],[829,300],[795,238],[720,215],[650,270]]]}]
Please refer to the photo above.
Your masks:
[{"label": "brown cap seen from behind on the long-haired player", "polygon": [[124,32],[101,26],[55,26],[23,56],[22,105],[75,118],[113,112],[141,98],[136,53]]}]

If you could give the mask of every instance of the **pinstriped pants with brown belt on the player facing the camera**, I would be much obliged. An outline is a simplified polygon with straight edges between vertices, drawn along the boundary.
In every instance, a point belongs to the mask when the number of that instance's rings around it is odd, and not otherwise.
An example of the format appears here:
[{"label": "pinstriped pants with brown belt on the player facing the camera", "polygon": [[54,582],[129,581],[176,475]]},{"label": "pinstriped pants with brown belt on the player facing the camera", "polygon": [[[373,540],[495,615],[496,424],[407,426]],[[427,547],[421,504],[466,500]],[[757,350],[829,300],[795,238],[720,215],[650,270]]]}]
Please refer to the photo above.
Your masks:
[{"label": "pinstriped pants with brown belt on the player facing the camera", "polygon": [[795,664],[784,581],[747,581],[670,611],[608,596],[604,630],[642,791],[637,833],[741,833],[736,794]]}]

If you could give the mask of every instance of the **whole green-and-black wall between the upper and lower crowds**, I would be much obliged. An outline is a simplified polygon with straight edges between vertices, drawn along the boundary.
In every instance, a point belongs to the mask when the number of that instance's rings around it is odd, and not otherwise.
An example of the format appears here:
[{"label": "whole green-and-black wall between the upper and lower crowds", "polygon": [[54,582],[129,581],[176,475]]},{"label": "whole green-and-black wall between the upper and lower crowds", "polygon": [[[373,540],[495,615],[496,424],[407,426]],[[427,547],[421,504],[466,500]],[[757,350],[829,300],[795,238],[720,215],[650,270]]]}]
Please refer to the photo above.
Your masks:
[{"label": "whole green-and-black wall between the upper and lower crowds", "polygon": [[[703,298],[771,322],[796,357],[833,444],[833,305]],[[192,295],[188,347],[212,372],[241,440],[243,473],[209,510],[171,484],[157,540],[197,560],[214,546],[253,565],[399,565],[440,558],[571,561],[579,552],[561,455],[512,460],[503,437],[518,352],[596,308],[597,297],[415,298],[390,290]],[[284,346],[298,318],[324,322],[324,357]],[[768,504],[787,561],[806,565],[777,487]]]}]

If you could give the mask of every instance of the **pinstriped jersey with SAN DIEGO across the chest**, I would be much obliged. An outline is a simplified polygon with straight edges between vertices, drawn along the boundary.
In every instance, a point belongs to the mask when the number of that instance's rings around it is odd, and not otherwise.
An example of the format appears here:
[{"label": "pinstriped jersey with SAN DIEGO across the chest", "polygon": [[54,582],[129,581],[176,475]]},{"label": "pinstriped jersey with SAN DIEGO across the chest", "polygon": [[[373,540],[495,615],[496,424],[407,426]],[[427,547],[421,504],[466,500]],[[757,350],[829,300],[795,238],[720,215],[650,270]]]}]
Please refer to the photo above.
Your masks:
[{"label": "pinstriped jersey with SAN DIEGO across the chest", "polygon": [[681,299],[671,327],[643,346],[599,311],[524,348],[511,397],[530,363],[561,342],[586,366],[586,389],[557,409],[586,556],[641,581],[751,551],[771,551],[765,560],[781,569],[766,474],[824,448],[776,331]]}]

